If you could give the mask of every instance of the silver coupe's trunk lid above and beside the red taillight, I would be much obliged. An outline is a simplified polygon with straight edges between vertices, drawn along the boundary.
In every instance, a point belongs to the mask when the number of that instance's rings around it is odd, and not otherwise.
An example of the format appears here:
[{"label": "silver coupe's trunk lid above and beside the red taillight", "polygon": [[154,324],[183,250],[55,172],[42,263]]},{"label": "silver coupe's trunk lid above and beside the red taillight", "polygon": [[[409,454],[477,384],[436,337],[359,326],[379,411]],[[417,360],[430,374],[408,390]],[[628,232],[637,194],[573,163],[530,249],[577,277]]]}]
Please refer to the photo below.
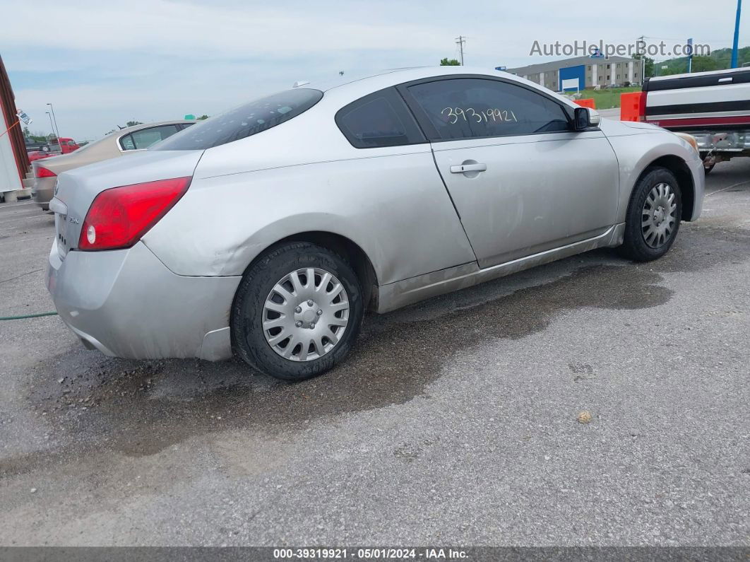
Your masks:
[{"label": "silver coupe's trunk lid above and beside the red taillight", "polygon": [[60,174],[49,209],[55,212],[55,237],[61,259],[78,247],[86,213],[102,191],[192,176],[202,154],[202,150],[146,151]]}]

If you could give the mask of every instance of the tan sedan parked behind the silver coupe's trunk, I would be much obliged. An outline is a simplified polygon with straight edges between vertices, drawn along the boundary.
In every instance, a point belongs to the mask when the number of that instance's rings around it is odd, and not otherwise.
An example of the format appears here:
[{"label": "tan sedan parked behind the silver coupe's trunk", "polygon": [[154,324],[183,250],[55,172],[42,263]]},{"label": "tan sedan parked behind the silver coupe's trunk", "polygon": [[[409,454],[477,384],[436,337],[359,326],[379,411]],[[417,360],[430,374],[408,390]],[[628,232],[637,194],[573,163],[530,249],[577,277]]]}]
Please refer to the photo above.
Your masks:
[{"label": "tan sedan parked behind the silver coupe's trunk", "polygon": [[148,149],[152,144],[171,137],[193,124],[195,124],[195,121],[178,119],[177,121],[133,125],[82,146],[75,152],[35,160],[31,162],[31,170],[34,172],[34,187],[31,188],[31,197],[43,211],[46,211],[49,209],[49,200],[52,199],[52,191],[55,189],[57,176],[61,173],[95,162],[131,154],[138,150]]}]

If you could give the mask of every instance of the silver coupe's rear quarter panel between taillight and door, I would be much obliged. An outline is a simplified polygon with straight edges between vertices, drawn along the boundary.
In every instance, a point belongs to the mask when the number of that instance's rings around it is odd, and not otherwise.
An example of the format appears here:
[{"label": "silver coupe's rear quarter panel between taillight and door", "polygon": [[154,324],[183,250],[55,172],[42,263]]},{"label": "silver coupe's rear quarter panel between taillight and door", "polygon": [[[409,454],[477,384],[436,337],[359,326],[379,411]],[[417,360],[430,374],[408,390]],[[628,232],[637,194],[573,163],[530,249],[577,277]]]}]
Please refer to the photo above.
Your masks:
[{"label": "silver coupe's rear quarter panel between taillight and door", "polygon": [[201,163],[143,240],[179,275],[242,275],[269,245],[308,231],[355,242],[380,284],[475,261],[429,147],[411,149],[212,178]]}]

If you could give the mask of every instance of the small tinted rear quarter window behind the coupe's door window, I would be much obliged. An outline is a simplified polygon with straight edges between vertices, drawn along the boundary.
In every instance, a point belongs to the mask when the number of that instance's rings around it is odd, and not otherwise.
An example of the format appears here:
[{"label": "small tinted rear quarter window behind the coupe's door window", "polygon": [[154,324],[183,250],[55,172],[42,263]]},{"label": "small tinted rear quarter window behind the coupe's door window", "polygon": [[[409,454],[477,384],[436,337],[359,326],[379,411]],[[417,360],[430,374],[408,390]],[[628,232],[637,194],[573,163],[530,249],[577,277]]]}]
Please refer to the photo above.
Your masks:
[{"label": "small tinted rear quarter window behind the coupe's door window", "polygon": [[336,124],[356,149],[425,143],[409,109],[394,89],[366,95],[341,108]]}]

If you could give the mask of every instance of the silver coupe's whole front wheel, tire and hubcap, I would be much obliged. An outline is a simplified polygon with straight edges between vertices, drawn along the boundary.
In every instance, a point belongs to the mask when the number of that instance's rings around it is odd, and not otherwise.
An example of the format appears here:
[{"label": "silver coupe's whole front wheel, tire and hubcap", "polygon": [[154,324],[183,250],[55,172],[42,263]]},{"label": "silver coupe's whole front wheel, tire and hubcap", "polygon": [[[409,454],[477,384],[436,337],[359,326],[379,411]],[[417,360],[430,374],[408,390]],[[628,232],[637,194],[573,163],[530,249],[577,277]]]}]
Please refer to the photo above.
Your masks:
[{"label": "silver coupe's whole front wheel, tire and hubcap", "polygon": [[653,167],[638,181],[625,219],[620,250],[636,261],[657,260],[669,251],[682,217],[682,192],[674,174]]}]

